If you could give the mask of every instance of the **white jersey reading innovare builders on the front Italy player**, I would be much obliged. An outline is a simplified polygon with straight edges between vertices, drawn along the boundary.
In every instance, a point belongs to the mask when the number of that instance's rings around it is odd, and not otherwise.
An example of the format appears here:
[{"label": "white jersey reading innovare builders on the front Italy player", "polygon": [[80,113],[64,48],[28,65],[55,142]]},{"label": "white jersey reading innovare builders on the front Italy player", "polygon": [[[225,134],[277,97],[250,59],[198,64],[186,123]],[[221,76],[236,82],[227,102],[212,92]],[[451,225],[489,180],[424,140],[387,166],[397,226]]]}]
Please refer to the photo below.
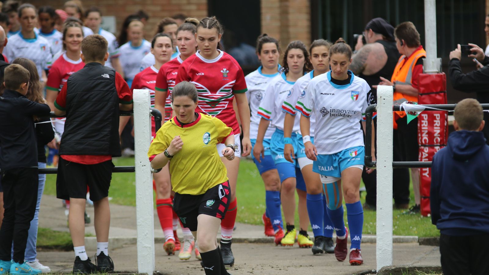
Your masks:
[{"label": "white jersey reading innovare builders on the front Italy player", "polygon": [[347,85],[331,82],[331,71],[314,77],[304,98],[297,101],[302,115],[316,115],[314,145],[319,155],[331,155],[350,147],[364,146],[360,121],[368,107],[367,82],[348,71]]}]

